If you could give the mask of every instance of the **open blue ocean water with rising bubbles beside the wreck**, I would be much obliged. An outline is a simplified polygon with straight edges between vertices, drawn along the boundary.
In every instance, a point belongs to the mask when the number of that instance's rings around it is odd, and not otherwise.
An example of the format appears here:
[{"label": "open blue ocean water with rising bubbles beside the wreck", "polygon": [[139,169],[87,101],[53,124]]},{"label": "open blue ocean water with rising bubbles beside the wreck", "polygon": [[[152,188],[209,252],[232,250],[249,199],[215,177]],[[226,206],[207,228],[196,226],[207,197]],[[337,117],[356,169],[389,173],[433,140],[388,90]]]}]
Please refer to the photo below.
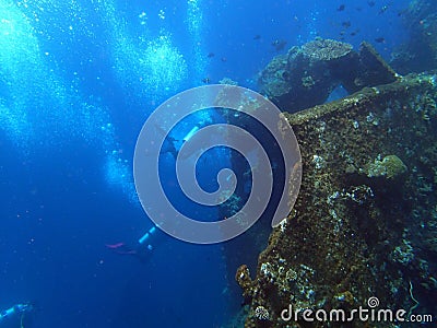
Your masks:
[{"label": "open blue ocean water with rising bubbles beside the wreck", "polygon": [[[105,246],[153,226],[132,177],[142,125],[205,82],[257,90],[274,56],[317,36],[368,39],[390,59],[409,37],[408,3],[0,0],[0,311],[36,302],[24,327],[224,326],[241,301],[229,300],[224,245],[157,231],[143,261]],[[211,172],[228,162],[211,156],[198,175],[213,190]],[[174,159],[162,160],[172,192]]]}]

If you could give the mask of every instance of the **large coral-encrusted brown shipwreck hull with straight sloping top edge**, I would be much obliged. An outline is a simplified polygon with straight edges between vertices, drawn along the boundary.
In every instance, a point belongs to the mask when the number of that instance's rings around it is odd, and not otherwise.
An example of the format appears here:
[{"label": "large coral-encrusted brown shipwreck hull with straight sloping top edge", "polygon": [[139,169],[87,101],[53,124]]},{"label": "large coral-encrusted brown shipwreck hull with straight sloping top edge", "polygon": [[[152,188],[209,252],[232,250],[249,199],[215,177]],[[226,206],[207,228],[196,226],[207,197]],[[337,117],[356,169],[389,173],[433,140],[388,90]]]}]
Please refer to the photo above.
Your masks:
[{"label": "large coral-encrusted brown shipwreck hull with straight sloping top edge", "polygon": [[[437,313],[436,102],[436,77],[410,75],[285,114],[302,151],[302,188],[256,278],[237,270],[246,327],[394,327],[302,318],[306,308],[370,308],[370,297],[375,309],[405,309],[405,318]],[[284,320],[290,307],[297,317]]]}]

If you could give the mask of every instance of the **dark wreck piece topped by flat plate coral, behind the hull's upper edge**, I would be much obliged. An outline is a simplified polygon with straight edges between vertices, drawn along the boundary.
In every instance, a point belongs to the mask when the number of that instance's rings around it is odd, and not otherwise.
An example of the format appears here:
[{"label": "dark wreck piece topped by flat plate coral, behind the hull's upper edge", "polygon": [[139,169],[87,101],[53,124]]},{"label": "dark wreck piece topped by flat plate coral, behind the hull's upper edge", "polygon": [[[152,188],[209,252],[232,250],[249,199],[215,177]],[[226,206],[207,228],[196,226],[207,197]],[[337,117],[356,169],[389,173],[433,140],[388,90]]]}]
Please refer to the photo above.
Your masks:
[{"label": "dark wreck piece topped by flat plate coral, behind the hull's upper edge", "polygon": [[397,78],[367,43],[356,52],[350,44],[316,38],[273,58],[260,73],[259,84],[281,109],[294,113],[322,104],[339,85],[353,93]]}]

